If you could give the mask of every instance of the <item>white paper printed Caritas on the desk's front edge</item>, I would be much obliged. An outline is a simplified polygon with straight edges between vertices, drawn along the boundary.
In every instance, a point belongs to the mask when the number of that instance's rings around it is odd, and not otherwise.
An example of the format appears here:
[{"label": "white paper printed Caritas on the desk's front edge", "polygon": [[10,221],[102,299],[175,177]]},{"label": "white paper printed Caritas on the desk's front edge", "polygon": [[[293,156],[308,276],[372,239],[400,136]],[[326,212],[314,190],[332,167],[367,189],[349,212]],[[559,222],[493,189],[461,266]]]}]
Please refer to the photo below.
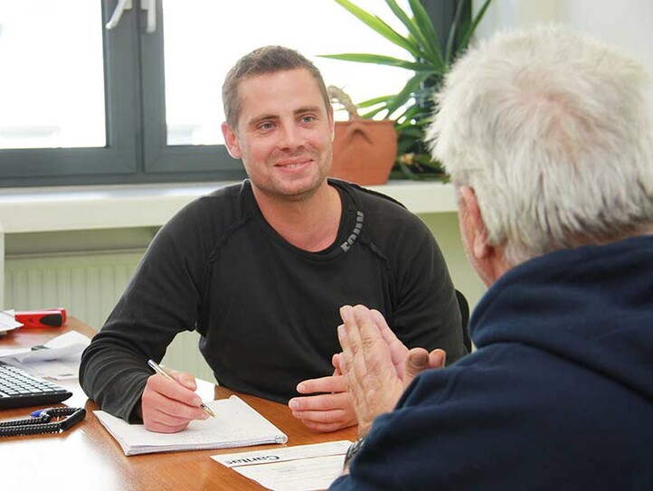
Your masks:
[{"label": "white paper printed Caritas on the desk's front edge", "polygon": [[314,491],[327,489],[340,476],[351,444],[340,440],[211,458],[272,491]]}]

